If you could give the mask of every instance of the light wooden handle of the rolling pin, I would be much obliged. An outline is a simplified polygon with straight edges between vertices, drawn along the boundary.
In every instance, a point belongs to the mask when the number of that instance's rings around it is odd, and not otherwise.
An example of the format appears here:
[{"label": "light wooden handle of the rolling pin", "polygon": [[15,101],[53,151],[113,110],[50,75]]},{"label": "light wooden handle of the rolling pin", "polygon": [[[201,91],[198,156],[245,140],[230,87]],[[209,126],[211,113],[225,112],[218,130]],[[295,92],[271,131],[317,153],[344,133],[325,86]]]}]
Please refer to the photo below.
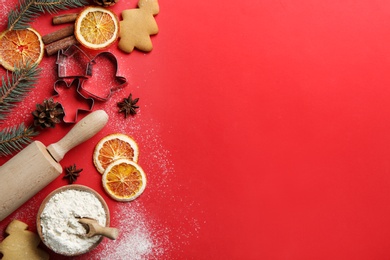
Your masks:
[{"label": "light wooden handle of the rolling pin", "polygon": [[108,115],[104,110],[97,110],[81,119],[61,140],[47,147],[51,156],[61,161],[73,147],[97,134],[107,123]]}]

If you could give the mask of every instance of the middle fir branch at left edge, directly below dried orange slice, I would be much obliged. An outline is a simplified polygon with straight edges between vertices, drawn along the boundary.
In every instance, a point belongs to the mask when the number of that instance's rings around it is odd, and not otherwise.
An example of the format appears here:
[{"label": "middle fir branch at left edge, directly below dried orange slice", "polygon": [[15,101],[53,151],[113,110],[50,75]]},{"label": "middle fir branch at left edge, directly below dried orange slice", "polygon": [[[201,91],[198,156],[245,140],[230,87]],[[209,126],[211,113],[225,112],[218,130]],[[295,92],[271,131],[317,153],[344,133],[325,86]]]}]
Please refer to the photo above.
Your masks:
[{"label": "middle fir branch at left edge, directly below dried orange slice", "polygon": [[38,80],[40,69],[37,64],[27,64],[23,68],[15,68],[12,75],[2,77],[0,89],[0,120],[4,120],[7,114],[34,88]]}]

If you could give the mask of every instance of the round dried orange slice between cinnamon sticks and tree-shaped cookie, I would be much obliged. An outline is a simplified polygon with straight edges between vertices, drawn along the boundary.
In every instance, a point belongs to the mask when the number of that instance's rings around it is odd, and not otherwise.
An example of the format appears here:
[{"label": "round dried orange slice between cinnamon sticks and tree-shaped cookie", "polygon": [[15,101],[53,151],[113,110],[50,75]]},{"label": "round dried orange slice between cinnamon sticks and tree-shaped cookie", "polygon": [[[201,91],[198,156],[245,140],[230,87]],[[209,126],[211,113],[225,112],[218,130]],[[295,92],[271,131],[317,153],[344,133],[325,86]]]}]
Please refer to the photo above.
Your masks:
[{"label": "round dried orange slice between cinnamon sticks and tree-shaped cookie", "polygon": [[118,38],[118,17],[103,7],[87,7],[76,19],[74,34],[84,47],[94,50],[104,49]]}]

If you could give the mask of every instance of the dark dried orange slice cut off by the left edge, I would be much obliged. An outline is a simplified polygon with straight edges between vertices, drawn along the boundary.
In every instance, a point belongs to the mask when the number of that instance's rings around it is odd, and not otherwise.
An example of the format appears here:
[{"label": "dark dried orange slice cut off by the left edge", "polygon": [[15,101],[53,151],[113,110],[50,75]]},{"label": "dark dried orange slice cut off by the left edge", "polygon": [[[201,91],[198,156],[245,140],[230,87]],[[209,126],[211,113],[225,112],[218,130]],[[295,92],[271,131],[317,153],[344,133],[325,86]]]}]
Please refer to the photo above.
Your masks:
[{"label": "dark dried orange slice cut off by the left edge", "polygon": [[7,70],[14,71],[27,63],[39,64],[43,53],[42,37],[32,28],[6,30],[0,34],[0,63]]}]

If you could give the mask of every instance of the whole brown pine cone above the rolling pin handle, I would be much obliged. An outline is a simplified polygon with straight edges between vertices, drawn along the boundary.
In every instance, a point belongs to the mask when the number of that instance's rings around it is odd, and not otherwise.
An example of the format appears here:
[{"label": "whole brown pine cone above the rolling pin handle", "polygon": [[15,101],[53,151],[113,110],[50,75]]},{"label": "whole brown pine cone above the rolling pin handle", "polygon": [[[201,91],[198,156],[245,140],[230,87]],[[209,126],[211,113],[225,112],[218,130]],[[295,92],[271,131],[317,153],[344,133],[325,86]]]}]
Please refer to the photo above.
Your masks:
[{"label": "whole brown pine cone above the rolling pin handle", "polygon": [[37,104],[36,110],[32,112],[34,116],[34,126],[41,128],[51,127],[61,122],[64,115],[64,110],[58,102],[54,102],[52,98],[43,101],[43,104]]}]

